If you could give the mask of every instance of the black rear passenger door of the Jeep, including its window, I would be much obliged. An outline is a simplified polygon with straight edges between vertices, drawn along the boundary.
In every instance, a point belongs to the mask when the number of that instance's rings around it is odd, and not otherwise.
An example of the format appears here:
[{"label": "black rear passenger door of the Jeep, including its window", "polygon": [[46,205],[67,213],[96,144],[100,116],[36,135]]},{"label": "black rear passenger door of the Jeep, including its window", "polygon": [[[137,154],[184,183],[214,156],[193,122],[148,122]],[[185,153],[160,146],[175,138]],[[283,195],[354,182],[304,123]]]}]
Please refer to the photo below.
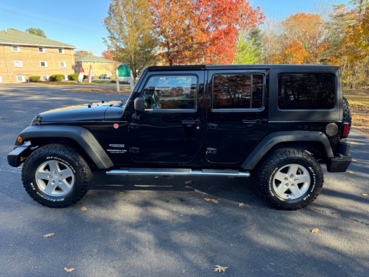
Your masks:
[{"label": "black rear passenger door of the Jeep, including its window", "polygon": [[206,158],[239,163],[268,127],[265,70],[208,71]]}]

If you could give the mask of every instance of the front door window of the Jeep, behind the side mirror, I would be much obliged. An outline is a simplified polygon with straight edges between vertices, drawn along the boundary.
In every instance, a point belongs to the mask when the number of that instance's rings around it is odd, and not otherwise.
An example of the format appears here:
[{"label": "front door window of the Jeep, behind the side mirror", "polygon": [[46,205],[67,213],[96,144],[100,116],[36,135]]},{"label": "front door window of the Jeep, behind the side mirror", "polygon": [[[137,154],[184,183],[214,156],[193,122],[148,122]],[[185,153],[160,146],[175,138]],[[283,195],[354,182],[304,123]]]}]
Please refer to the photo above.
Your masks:
[{"label": "front door window of the Jeep, behind the side mirror", "polygon": [[141,97],[145,98],[145,109],[196,109],[196,89],[196,76],[151,76]]}]

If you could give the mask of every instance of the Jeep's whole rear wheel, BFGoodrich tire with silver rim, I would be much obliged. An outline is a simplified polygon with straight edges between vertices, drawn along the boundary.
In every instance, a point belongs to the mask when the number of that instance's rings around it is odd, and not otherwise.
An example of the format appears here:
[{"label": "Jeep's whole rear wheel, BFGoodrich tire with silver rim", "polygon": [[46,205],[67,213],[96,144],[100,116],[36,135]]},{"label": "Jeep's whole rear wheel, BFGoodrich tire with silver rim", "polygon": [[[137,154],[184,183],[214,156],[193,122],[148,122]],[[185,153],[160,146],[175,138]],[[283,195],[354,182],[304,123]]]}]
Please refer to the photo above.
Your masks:
[{"label": "Jeep's whole rear wheel, BFGoodrich tire with silver rim", "polygon": [[296,148],[280,148],[268,154],[259,167],[259,189],[269,205],[297,210],[317,198],[323,171],[315,158]]}]

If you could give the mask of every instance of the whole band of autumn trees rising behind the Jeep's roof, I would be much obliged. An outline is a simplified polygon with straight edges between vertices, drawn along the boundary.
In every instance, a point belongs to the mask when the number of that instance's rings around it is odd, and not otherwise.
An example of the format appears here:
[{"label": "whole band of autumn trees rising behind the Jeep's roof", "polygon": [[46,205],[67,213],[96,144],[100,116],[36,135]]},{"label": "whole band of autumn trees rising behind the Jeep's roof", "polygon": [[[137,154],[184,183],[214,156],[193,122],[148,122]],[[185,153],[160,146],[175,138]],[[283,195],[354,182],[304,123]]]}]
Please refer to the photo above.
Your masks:
[{"label": "whole band of autumn trees rising behind the Jeep's roof", "polygon": [[317,2],[266,18],[245,0],[112,0],[108,49],[139,75],[151,64],[331,64],[369,85],[369,2]]}]

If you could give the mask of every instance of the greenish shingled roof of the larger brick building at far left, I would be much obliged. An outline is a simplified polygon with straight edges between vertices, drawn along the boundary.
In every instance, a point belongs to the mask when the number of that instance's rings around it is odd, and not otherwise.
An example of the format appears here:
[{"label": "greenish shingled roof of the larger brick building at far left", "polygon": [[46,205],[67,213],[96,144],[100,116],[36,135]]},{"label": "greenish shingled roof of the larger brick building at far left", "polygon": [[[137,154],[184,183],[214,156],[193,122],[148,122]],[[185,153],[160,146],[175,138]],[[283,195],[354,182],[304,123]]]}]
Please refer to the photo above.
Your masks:
[{"label": "greenish shingled roof of the larger brick building at far left", "polygon": [[0,31],[0,44],[17,44],[17,45],[34,45],[34,46],[49,46],[76,48],[73,45],[44,38],[39,35],[27,34],[27,32],[15,30],[13,28]]}]

